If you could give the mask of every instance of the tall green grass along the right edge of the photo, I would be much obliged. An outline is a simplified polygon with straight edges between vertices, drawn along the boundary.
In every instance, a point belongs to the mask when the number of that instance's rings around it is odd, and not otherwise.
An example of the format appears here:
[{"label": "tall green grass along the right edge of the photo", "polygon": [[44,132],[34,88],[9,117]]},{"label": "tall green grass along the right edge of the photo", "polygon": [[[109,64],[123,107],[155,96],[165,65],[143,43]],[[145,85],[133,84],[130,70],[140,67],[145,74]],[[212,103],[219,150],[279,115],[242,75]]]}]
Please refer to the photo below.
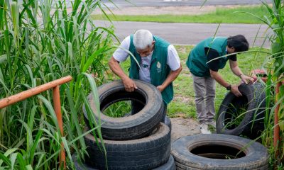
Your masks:
[{"label": "tall green grass along the right edge of the photo", "polygon": [[[267,56],[263,66],[268,67],[268,81],[266,82],[266,130],[262,135],[262,143],[269,148],[271,153],[271,164],[274,169],[284,168],[284,84],[280,86],[280,93],[275,93],[275,86],[278,82],[284,80],[284,1],[273,0],[273,6],[263,2],[266,6],[267,15],[258,16],[249,13],[251,16],[258,18],[259,21],[266,24],[273,30],[273,34],[266,38],[271,41],[271,52]],[[276,102],[277,101],[277,102]],[[273,146],[273,130],[275,128],[274,117],[275,108],[280,106],[278,118],[280,127],[280,138],[276,147]],[[278,153],[278,154],[277,154]]]}]

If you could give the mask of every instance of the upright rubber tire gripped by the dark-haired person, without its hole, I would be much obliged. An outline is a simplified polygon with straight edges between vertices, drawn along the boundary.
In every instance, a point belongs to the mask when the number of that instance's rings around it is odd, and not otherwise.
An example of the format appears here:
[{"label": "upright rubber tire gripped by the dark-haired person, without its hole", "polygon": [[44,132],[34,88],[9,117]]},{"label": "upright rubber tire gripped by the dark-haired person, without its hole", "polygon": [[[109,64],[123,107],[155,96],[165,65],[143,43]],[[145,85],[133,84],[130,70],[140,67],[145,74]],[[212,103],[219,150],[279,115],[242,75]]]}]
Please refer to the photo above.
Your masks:
[{"label": "upright rubber tire gripped by the dark-haired person, without its hole", "polygon": [[[226,128],[224,123],[227,110],[233,101],[235,103],[242,102],[242,99],[240,98],[238,100],[238,97],[234,96],[231,92],[226,94],[217,115],[217,133],[237,136],[245,135],[251,139],[256,139],[256,137],[261,135],[261,132],[264,129],[264,116],[266,109],[266,94],[264,88],[265,87],[261,83],[248,85],[241,84],[239,86],[239,91],[248,101],[248,112],[244,115],[244,119],[241,120],[241,123],[237,127],[231,129]],[[256,111],[256,108],[259,109]]]}]

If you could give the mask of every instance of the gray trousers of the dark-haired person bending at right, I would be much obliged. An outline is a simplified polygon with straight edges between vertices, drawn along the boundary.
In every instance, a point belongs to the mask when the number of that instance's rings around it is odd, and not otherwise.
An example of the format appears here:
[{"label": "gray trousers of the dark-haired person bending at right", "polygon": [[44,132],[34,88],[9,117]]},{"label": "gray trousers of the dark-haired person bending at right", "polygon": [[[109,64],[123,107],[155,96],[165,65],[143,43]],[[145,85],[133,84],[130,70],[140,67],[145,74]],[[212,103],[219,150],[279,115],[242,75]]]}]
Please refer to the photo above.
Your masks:
[{"label": "gray trousers of the dark-haired person bending at right", "polygon": [[215,116],[215,80],[212,77],[192,77],[197,118],[200,123],[211,122]]}]

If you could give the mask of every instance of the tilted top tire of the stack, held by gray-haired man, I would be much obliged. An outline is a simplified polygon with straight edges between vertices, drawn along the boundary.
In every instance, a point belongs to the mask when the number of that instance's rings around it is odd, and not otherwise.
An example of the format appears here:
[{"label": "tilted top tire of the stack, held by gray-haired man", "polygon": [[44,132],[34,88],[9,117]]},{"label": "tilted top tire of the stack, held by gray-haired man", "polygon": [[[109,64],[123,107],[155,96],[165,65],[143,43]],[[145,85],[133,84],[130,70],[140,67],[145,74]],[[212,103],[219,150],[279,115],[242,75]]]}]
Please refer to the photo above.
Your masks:
[{"label": "tilted top tire of the stack, held by gray-haired man", "polygon": [[[163,99],[160,91],[145,81],[135,80],[136,89],[129,93],[124,89],[121,80],[99,86],[99,102],[101,111],[118,101],[136,101],[144,105],[144,108],[135,115],[123,118],[111,118],[102,112],[96,112],[94,98],[89,94],[88,100],[94,117],[102,121],[102,136],[107,140],[134,140],[149,135],[160,123],[163,116]],[[84,118],[90,128],[85,106],[83,106]]]}]

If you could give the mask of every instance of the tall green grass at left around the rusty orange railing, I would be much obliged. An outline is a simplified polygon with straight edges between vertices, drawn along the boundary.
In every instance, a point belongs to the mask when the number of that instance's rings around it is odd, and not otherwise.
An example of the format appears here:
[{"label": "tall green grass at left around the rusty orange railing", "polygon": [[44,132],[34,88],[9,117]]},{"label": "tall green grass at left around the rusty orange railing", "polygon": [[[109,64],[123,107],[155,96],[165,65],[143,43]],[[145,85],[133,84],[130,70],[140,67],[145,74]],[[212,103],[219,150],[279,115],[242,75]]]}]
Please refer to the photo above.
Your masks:
[{"label": "tall green grass at left around the rusty orange railing", "polygon": [[[95,9],[103,10],[100,3],[0,0],[0,98],[73,77],[60,86],[64,136],[51,91],[1,109],[0,169],[59,169],[61,142],[69,168],[73,152],[84,158],[82,104],[88,106],[89,91],[97,97],[96,84],[102,83],[106,69],[102,62],[114,36],[111,28],[94,26],[89,19]],[[100,137],[100,123],[89,120]]]}]

